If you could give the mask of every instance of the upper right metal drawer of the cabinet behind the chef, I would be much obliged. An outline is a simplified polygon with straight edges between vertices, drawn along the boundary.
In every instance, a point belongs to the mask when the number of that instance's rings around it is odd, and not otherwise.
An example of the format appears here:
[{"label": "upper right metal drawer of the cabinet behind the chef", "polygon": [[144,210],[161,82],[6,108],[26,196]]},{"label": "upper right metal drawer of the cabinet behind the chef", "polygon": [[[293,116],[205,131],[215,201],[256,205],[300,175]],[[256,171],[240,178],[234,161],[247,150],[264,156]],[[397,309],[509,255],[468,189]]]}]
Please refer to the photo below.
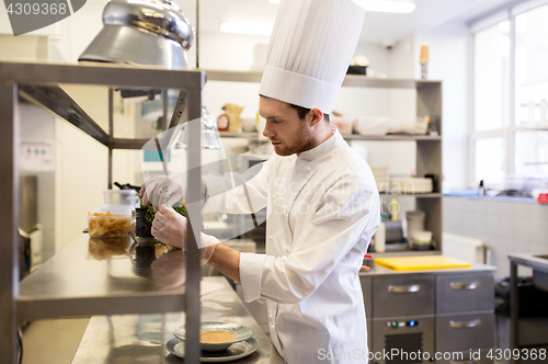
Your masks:
[{"label": "upper right metal drawer of the cabinet behind the chef", "polygon": [[436,312],[469,312],[494,309],[493,275],[438,276]]}]

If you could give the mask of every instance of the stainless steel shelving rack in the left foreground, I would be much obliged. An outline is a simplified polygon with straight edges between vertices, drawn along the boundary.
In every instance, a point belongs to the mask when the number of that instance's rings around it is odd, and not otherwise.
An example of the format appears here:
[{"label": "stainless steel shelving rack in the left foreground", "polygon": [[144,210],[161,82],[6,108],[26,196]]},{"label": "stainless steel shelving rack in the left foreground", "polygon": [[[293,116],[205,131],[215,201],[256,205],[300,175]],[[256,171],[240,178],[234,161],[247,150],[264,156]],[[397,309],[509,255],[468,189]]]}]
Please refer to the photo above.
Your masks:
[{"label": "stainless steel shelving rack in the left foreground", "polygon": [[[67,94],[61,86],[83,84],[109,89],[109,130],[104,130]],[[80,315],[150,314],[192,311],[186,319],[186,363],[199,362],[199,281],[201,260],[192,229],[187,230],[186,282],[175,291],[159,292],[139,280],[129,261],[87,261],[88,236],[68,244],[41,269],[19,283],[19,145],[21,100],[32,102],[58,115],[109,148],[110,179],[112,151],[140,149],[148,139],[122,139],[113,134],[113,92],[115,89],[181,90],[186,98],[182,120],[199,118],[205,72],[147,68],[71,66],[0,62],[0,197],[4,202],[0,219],[0,363],[16,363],[18,320]],[[167,129],[164,103],[163,129]],[[104,122],[104,121],[102,121]],[[178,123],[175,121],[172,124]],[[189,195],[201,193],[199,124],[189,124],[189,166],[197,175],[189,175]],[[93,171],[90,171],[92,173]],[[191,174],[191,173],[190,173]],[[82,178],[85,178],[82,175]],[[106,185],[105,185],[106,186]],[[202,221],[196,221],[202,225]]]}]

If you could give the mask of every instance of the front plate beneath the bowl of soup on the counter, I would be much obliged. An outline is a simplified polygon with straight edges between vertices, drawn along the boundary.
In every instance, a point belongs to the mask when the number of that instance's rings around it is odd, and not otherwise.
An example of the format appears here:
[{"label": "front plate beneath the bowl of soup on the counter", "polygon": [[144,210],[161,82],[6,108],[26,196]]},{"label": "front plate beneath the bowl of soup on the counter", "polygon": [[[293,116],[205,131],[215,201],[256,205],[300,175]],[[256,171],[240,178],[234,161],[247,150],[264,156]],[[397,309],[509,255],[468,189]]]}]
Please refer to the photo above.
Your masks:
[{"label": "front plate beneath the bowl of soup on the counter", "polygon": [[[232,362],[252,354],[259,348],[259,341],[255,338],[240,341],[222,351],[202,351],[203,363],[224,363]],[[184,341],[173,338],[165,343],[165,349],[170,353],[184,359]]]}]

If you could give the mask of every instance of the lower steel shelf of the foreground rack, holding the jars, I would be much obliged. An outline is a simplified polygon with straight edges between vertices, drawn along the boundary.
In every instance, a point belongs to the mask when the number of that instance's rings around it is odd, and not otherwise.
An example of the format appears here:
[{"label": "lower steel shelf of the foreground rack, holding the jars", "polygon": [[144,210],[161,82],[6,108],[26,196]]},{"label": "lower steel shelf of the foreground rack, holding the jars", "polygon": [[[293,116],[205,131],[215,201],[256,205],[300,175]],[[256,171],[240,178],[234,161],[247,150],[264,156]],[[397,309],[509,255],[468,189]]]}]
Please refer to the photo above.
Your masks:
[{"label": "lower steel shelf of the foreground rack, holding the jars", "polygon": [[184,310],[184,285],[160,291],[132,258],[94,260],[88,242],[78,237],[21,282],[19,319]]}]

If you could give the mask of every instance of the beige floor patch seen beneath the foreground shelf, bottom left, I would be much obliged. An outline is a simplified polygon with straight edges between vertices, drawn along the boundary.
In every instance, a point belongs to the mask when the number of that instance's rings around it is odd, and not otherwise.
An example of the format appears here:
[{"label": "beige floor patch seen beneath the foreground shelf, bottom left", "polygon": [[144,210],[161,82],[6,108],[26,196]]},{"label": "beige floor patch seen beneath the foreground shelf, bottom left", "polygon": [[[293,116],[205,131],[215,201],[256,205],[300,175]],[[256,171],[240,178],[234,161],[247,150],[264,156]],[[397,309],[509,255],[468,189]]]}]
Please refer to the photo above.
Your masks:
[{"label": "beige floor patch seen beneath the foreground shelf, bottom left", "polygon": [[90,318],[33,321],[23,331],[23,364],[70,364]]}]

